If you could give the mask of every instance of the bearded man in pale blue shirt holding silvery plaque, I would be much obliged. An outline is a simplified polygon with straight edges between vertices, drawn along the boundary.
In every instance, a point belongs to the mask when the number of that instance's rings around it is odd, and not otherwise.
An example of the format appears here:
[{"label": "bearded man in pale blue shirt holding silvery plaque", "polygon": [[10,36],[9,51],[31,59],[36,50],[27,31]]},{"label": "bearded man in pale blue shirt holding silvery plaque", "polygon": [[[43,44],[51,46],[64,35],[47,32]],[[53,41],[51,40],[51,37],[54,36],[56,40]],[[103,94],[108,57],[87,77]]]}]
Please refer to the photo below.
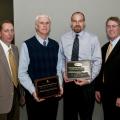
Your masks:
[{"label": "bearded man in pale blue shirt holding silvery plaque", "polygon": [[[71,16],[71,31],[61,37],[58,54],[57,74],[64,79],[64,120],[92,120],[95,102],[94,79],[101,68],[101,48],[97,36],[84,31],[85,16],[75,12]],[[77,34],[77,35],[76,35]],[[77,39],[73,52],[74,39]],[[76,53],[78,54],[77,57]],[[74,56],[74,57],[73,57]],[[69,61],[90,61],[90,79],[70,79],[66,64]]]}]

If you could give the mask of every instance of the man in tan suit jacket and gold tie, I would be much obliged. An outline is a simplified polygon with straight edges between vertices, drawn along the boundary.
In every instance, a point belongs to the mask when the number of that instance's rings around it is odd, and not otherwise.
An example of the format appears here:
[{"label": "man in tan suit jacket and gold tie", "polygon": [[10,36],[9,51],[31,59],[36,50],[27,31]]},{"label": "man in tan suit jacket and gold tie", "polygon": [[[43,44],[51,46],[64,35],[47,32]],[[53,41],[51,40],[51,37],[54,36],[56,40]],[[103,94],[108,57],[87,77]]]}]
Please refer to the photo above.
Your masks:
[{"label": "man in tan suit jacket and gold tie", "polygon": [[[19,120],[19,85],[15,86],[12,82],[8,59],[8,51],[12,49],[18,65],[18,49],[11,44],[13,37],[13,24],[8,20],[3,21],[0,26],[0,120]],[[17,77],[16,81],[18,83]]]}]

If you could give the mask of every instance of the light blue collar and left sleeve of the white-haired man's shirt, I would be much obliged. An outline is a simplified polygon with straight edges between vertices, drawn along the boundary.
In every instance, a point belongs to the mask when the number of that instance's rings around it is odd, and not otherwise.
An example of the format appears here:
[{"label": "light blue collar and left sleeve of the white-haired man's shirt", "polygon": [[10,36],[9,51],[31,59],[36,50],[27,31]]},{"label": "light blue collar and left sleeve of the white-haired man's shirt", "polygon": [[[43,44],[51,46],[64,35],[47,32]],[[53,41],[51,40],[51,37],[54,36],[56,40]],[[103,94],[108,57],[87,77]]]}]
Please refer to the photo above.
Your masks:
[{"label": "light blue collar and left sleeve of the white-haired man's shirt", "polygon": [[[43,45],[43,39],[39,37],[37,34],[35,35],[37,40],[40,42],[40,44]],[[45,40],[46,44],[48,44],[48,38]],[[35,92],[35,86],[32,83],[32,80],[28,74],[28,66],[29,66],[29,53],[28,53],[28,48],[23,42],[21,46],[21,51],[20,51],[20,59],[19,59],[19,68],[18,68],[18,77],[20,80],[20,83],[32,94]]]}]

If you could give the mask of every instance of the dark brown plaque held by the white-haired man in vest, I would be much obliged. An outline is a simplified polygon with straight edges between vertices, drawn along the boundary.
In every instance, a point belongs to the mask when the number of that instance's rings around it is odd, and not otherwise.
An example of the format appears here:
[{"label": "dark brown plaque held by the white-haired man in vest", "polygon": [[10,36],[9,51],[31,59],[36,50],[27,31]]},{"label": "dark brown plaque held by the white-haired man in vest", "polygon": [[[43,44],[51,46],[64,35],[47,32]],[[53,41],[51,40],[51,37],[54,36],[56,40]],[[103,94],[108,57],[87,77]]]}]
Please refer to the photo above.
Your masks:
[{"label": "dark brown plaque held by the white-haired man in vest", "polygon": [[60,92],[57,76],[45,77],[35,80],[35,88],[38,98],[57,96]]}]

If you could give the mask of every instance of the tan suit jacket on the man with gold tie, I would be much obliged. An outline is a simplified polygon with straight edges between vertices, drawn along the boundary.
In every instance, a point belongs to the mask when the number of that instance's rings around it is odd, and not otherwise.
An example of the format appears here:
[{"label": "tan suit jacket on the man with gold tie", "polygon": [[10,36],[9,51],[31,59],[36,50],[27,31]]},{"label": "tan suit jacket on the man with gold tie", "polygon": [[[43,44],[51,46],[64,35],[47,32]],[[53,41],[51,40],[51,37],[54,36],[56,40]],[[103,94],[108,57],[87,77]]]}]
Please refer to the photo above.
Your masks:
[{"label": "tan suit jacket on the man with gold tie", "polygon": [[[18,65],[18,49],[12,45]],[[4,50],[0,44],[0,114],[8,113],[13,103],[14,86],[11,81],[11,73]]]}]

